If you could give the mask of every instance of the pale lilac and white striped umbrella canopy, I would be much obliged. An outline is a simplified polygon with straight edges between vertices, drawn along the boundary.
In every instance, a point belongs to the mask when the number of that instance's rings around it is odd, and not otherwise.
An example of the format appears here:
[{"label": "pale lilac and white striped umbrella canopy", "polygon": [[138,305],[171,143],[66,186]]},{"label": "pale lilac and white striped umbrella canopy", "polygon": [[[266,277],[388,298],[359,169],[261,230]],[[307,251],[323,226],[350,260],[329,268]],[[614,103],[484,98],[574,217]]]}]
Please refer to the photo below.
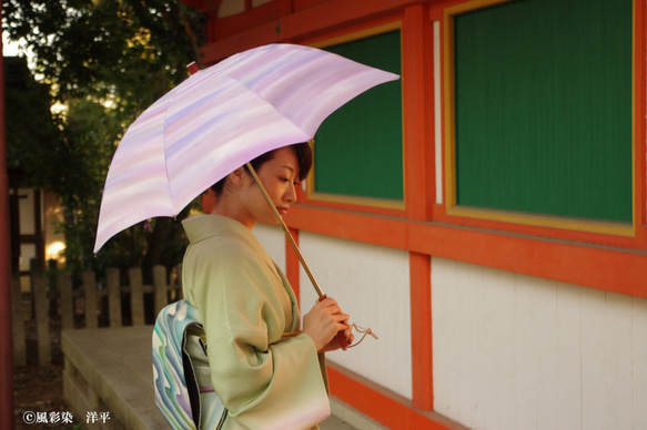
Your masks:
[{"label": "pale lilac and white striped umbrella canopy", "polygon": [[296,44],[254,48],[194,73],[121,140],[105,180],[94,253],[137,223],[178,215],[256,156],[310,141],[344,103],[398,78]]}]

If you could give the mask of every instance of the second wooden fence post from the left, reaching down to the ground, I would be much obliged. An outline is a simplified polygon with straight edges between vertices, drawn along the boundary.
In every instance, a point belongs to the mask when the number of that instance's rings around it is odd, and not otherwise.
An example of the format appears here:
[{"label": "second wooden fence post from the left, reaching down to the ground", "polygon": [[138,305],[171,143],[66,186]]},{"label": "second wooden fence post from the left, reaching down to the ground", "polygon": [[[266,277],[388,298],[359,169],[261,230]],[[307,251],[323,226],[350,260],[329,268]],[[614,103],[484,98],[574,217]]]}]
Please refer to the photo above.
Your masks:
[{"label": "second wooden fence post from the left, reaching down to the ground", "polygon": [[50,340],[49,299],[44,274],[38,266],[38,260],[31,260],[31,293],[36,310],[36,331],[38,337],[38,364],[49,366],[52,362]]}]

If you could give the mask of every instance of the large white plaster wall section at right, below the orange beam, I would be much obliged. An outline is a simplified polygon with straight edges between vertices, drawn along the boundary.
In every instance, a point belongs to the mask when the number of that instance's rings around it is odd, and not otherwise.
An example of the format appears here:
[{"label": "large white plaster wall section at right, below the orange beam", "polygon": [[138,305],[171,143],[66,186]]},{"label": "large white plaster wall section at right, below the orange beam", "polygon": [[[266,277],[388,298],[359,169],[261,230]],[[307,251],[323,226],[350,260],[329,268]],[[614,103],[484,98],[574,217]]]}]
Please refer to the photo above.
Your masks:
[{"label": "large white plaster wall section at right, below the orange beam", "polygon": [[647,429],[647,300],[432,258],[435,409],[473,429]]}]

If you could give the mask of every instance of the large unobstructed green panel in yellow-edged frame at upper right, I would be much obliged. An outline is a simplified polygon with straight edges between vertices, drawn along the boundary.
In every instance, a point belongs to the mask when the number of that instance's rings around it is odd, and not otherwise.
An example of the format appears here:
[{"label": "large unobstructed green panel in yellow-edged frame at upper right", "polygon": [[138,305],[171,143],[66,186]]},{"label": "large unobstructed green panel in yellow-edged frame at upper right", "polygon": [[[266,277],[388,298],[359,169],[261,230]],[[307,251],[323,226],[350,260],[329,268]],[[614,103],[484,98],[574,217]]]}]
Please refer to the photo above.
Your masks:
[{"label": "large unobstructed green panel in yellow-edged frame at upper right", "polygon": [[631,222],[631,0],[455,17],[456,202]]}]

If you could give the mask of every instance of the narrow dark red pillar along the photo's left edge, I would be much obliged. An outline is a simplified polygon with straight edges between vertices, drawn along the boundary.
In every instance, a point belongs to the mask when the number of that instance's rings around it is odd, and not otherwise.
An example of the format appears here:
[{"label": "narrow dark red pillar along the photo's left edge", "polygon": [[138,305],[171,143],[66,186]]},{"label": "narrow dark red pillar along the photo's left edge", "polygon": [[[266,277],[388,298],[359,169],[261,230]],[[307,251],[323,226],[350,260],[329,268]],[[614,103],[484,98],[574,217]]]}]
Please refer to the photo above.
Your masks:
[{"label": "narrow dark red pillar along the photo's left edge", "polygon": [[[0,19],[2,18],[0,0]],[[0,34],[2,30],[0,29]],[[4,122],[4,53],[0,48],[0,429],[13,429],[13,331],[11,325],[11,249],[9,176]]]}]

